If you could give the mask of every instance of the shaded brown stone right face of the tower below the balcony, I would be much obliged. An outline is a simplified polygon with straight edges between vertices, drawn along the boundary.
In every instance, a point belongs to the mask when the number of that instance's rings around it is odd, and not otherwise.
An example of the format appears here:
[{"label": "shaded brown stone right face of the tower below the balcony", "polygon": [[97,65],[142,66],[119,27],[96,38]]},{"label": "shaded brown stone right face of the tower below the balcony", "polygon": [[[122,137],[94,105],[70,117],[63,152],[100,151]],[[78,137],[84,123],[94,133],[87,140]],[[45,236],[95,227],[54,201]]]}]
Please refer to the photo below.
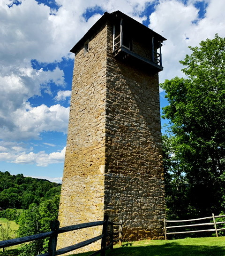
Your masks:
[{"label": "shaded brown stone right face of the tower below the balcony", "polygon": [[112,34],[109,25],[105,212],[124,222],[125,239],[162,239],[165,200],[158,74],[115,59]]}]

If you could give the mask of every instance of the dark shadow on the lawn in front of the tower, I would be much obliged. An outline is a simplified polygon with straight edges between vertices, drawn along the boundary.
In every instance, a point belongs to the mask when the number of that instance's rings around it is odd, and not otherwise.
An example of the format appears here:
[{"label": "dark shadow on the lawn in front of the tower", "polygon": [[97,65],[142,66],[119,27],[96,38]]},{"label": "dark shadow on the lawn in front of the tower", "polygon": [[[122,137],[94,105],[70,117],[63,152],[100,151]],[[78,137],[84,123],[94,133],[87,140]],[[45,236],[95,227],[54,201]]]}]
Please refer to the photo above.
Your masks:
[{"label": "dark shadow on the lawn in front of the tower", "polygon": [[[90,252],[81,253],[75,256],[90,254]],[[107,250],[106,256],[225,256],[225,247],[179,245],[173,242],[165,245],[114,248],[112,251]]]}]

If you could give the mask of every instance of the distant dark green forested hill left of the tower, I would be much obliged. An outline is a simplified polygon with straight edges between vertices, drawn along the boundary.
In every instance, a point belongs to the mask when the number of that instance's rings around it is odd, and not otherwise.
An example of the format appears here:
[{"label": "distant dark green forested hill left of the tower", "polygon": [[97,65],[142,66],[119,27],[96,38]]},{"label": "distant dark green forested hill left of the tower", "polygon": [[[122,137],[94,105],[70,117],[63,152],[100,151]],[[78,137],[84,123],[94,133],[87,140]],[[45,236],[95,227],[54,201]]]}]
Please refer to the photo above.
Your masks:
[{"label": "distant dark green forested hill left of the tower", "polygon": [[44,179],[11,175],[0,171],[0,208],[28,209],[31,203],[39,203],[60,194],[61,185]]}]

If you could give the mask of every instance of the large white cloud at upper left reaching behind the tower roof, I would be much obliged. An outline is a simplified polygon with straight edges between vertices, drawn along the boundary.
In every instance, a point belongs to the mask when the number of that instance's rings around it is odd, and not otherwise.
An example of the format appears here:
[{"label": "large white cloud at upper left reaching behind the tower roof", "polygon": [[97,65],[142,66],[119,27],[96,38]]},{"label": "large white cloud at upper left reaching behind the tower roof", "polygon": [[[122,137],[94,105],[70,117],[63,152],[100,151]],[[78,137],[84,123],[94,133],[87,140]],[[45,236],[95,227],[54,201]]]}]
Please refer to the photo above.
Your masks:
[{"label": "large white cloud at upper left reaching behind the tower roof", "polygon": [[[59,61],[69,55],[69,49],[99,18],[98,13],[86,20],[86,9],[100,7],[103,11],[122,12],[139,17],[146,5],[154,0],[57,0],[60,6],[55,15],[50,7],[35,0],[21,0],[20,5],[8,8],[10,0],[0,5],[0,59],[5,64],[37,59],[41,62]],[[37,22],[38,21],[38,22]]]}]

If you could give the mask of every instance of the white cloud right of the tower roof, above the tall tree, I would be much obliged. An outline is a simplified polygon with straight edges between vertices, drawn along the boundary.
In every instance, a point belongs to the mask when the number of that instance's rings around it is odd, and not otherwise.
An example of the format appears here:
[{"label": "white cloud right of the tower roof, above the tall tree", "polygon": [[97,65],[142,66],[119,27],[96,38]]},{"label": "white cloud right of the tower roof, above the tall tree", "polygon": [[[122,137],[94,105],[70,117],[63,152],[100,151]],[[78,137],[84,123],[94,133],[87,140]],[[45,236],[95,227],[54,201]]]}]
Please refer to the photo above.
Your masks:
[{"label": "white cloud right of the tower roof, above the tall tree", "polygon": [[164,71],[159,75],[161,82],[176,75],[184,76],[179,61],[190,53],[189,45],[197,46],[216,33],[225,36],[224,0],[206,0],[208,6],[202,19],[194,6],[196,2],[190,0],[185,5],[180,0],[161,0],[150,15],[150,28],[167,39],[162,47]]}]

